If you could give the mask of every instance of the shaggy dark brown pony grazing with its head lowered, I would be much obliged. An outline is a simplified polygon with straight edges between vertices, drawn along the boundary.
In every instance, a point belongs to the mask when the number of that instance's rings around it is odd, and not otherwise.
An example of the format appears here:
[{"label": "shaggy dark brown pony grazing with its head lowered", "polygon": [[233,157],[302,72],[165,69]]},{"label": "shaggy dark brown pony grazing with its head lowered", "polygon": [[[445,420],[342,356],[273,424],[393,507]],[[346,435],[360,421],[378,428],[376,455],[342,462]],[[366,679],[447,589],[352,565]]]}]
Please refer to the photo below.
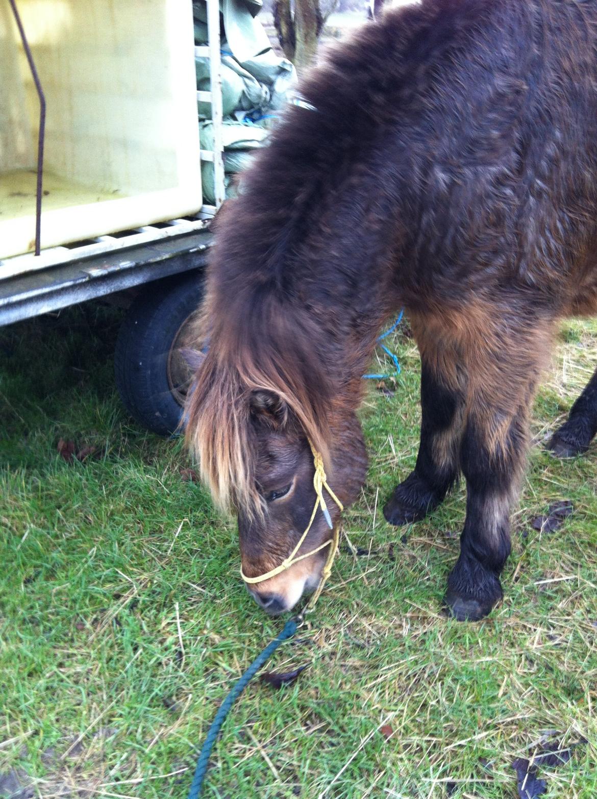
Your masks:
[{"label": "shaggy dark brown pony grazing with its head lowered", "polygon": [[[187,441],[242,566],[277,566],[315,500],[308,439],[344,506],[363,483],[356,417],[380,327],[404,305],[421,356],[415,470],[384,508],[422,519],[464,473],[446,603],[502,596],[529,407],[559,318],[597,310],[597,0],[424,0],[332,52],[217,221],[209,354]],[[555,433],[597,431],[597,376]],[[328,503],[335,520],[338,511]],[[301,551],[329,537],[321,512]],[[270,613],[326,551],[252,593]]]}]

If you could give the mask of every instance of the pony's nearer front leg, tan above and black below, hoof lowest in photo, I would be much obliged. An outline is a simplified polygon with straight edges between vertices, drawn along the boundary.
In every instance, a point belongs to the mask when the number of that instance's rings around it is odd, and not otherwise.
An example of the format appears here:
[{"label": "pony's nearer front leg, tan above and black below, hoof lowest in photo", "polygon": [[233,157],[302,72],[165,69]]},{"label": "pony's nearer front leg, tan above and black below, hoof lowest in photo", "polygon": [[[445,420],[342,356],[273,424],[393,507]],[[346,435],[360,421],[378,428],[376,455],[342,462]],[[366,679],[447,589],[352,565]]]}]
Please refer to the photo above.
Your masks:
[{"label": "pony's nearer front leg, tan above and black below, hoof lowest in photo", "polygon": [[[446,605],[460,619],[487,615],[502,597],[499,574],[510,554],[510,508],[527,449],[528,413],[550,339],[549,327],[504,326],[471,342],[460,465],[467,515]],[[516,329],[518,328],[518,329]]]}]

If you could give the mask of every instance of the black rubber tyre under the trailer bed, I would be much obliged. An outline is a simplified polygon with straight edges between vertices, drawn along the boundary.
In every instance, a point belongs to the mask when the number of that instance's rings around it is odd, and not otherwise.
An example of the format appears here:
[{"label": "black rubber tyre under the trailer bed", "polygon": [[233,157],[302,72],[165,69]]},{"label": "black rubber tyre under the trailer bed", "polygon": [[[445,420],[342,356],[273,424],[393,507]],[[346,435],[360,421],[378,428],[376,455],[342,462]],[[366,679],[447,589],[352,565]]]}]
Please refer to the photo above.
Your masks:
[{"label": "black rubber tyre under the trailer bed", "polygon": [[202,296],[202,272],[149,283],[128,309],[118,333],[118,392],[133,419],[157,435],[177,433],[182,407],[169,383],[169,352]]}]

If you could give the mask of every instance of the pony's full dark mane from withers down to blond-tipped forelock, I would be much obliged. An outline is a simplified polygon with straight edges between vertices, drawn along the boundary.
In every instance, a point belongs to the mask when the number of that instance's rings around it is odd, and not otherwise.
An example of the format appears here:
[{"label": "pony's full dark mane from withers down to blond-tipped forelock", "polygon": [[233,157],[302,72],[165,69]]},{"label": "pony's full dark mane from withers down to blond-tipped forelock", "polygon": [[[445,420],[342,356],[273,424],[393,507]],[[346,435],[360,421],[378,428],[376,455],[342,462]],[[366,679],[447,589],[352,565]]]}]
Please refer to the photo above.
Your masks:
[{"label": "pony's full dark mane from withers down to blond-tipped forelock", "polygon": [[[463,6],[474,15],[491,4],[427,0],[389,12],[332,50],[300,87],[313,109],[285,113],[243,175],[239,197],[218,213],[200,333],[209,352],[185,416],[186,441],[222,509],[262,511],[252,392],[280,396],[328,461],[332,404],[337,411],[346,388],[330,368],[342,356],[330,327],[347,323],[334,307],[333,275],[320,268],[324,256],[305,267],[305,252],[318,242],[322,251],[321,210],[333,210],[340,190],[350,190],[355,164],[424,79],[413,64],[450,46]],[[317,280],[328,284],[318,288]]]}]

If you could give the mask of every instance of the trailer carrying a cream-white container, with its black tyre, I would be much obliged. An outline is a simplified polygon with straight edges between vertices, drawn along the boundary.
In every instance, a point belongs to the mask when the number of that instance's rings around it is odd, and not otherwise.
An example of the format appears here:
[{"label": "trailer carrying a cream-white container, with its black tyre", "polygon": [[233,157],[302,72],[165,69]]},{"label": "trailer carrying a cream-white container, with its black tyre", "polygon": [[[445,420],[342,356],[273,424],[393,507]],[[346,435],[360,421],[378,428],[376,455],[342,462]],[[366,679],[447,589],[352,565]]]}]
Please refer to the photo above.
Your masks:
[{"label": "trailer carrying a cream-white container, with its black tyre", "polygon": [[[117,388],[160,435],[181,418],[181,350],[225,199],[220,3],[206,9],[209,42],[196,46],[190,0],[0,0],[0,325],[126,304]],[[212,105],[211,150],[198,102]]]}]

